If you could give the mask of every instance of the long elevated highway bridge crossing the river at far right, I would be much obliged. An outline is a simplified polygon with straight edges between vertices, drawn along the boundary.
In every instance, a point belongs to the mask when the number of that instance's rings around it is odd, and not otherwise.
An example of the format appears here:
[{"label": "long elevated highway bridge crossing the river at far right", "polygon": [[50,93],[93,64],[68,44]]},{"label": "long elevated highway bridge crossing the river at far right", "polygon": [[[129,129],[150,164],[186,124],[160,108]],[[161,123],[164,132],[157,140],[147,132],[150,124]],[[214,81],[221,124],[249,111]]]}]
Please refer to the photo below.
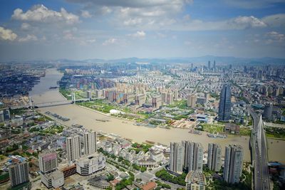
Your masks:
[{"label": "long elevated highway bridge crossing the river at far right", "polygon": [[253,118],[253,130],[251,136],[252,164],[254,165],[254,189],[269,190],[270,179],[268,169],[268,155],[266,136],[263,128],[262,116],[249,107]]}]

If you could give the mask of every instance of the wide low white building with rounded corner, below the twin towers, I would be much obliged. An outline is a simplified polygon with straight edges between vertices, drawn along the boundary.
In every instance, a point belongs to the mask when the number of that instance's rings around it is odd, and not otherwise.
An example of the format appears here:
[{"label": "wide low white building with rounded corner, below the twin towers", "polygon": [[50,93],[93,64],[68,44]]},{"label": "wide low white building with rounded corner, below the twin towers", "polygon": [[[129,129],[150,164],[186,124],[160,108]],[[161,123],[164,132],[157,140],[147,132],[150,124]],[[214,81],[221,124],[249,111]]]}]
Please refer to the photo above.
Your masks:
[{"label": "wide low white building with rounded corner, below the twin towers", "polygon": [[104,156],[94,153],[88,157],[82,157],[76,161],[76,172],[82,176],[88,176],[105,168]]}]

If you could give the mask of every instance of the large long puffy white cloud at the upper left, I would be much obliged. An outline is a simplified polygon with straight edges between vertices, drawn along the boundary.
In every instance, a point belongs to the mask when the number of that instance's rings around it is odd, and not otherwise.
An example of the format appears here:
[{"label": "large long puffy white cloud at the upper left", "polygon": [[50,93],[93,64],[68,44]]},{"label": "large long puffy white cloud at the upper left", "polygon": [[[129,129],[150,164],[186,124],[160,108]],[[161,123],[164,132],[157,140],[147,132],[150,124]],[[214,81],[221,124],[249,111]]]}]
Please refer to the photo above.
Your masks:
[{"label": "large long puffy white cloud at the upper left", "polygon": [[46,6],[36,5],[28,11],[24,12],[22,9],[15,9],[12,19],[19,21],[36,21],[36,22],[63,22],[68,24],[78,23],[79,17],[75,14],[68,13],[66,9],[61,8],[61,11],[53,11],[46,8]]}]

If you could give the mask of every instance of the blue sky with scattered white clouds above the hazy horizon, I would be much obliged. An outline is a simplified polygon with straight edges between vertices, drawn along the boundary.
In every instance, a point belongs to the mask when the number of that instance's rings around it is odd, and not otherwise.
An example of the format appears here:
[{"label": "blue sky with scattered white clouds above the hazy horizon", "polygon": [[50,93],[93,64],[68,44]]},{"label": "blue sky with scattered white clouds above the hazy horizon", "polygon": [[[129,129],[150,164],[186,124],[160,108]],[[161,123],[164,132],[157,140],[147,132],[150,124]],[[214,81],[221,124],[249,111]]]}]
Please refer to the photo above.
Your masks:
[{"label": "blue sky with scattered white clouds above the hazy horizon", "polygon": [[1,0],[0,60],[285,58],[285,0]]}]

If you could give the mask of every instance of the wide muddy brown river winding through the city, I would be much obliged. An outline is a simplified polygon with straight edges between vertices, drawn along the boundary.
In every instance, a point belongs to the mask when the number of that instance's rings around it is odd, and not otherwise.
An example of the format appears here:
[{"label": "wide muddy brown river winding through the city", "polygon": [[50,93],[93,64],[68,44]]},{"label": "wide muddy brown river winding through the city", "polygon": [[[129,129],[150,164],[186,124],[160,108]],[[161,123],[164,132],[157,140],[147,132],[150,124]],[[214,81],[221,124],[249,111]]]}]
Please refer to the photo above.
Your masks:
[{"label": "wide muddy brown river winding through the city", "polygon": [[[51,102],[64,100],[63,96],[56,90],[50,90],[50,86],[56,85],[56,81],[61,79],[62,74],[55,68],[46,70],[46,77],[41,78],[41,82],[35,85],[30,95],[32,100],[38,102]],[[93,110],[88,110],[78,105],[61,105],[56,107],[44,107],[38,109],[40,112],[50,111],[68,117],[68,122],[62,122],[64,125],[72,124],[83,125],[90,130],[102,130],[103,132],[119,134],[121,137],[133,139],[133,142],[145,142],[150,140],[160,142],[162,144],[170,144],[170,142],[180,142],[181,140],[191,140],[192,142],[201,142],[204,151],[207,150],[208,143],[215,142],[224,147],[227,144],[240,144],[244,148],[244,161],[250,161],[249,137],[230,136],[227,139],[214,139],[207,137],[207,133],[202,135],[190,134],[189,130],[183,129],[162,129],[160,127],[150,128],[133,125],[133,122],[125,122],[114,117],[109,117]],[[109,120],[108,122],[100,122],[98,120]],[[285,141],[268,139],[269,160],[285,163]]]}]

